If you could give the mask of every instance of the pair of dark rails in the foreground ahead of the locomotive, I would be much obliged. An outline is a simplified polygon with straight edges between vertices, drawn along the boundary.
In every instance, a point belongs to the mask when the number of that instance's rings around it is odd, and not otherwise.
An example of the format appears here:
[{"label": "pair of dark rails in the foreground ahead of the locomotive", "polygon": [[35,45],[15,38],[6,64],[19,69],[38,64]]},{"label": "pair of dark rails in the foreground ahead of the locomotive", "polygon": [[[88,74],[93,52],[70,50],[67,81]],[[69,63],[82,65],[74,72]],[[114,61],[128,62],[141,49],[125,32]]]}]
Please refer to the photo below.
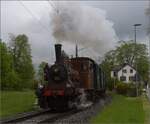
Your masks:
[{"label": "pair of dark rails in the foreground ahead of the locomotive", "polygon": [[1,124],[45,124],[45,123],[53,123],[58,119],[62,119],[64,117],[68,117],[72,114],[75,114],[81,110],[71,110],[66,112],[52,112],[50,110],[43,110],[39,112],[30,112],[24,113],[18,117],[13,117],[5,120],[1,120]]}]

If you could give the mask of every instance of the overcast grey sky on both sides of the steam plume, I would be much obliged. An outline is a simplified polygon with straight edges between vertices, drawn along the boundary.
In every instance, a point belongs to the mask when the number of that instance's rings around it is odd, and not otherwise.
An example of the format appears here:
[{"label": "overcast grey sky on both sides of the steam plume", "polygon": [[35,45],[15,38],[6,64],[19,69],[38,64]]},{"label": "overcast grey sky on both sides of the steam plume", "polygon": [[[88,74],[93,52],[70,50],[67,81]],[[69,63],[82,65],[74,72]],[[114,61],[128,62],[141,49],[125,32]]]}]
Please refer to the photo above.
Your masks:
[{"label": "overcast grey sky on both sides of the steam plume", "polygon": [[[146,28],[148,20],[145,9],[148,1],[90,1],[80,2],[99,8],[106,12],[106,17],[113,23],[113,28],[119,40],[134,38],[133,24],[140,23],[137,41],[148,43]],[[61,6],[61,3],[59,3]],[[47,1],[1,1],[1,39],[9,42],[9,33],[26,34],[32,48],[33,62],[54,61],[55,43],[51,35],[50,12],[52,6]],[[64,43],[64,49],[69,55],[74,54],[74,45]],[[88,51],[88,50],[87,50]],[[86,53],[87,53],[86,51]],[[80,55],[86,55],[84,51]]]}]

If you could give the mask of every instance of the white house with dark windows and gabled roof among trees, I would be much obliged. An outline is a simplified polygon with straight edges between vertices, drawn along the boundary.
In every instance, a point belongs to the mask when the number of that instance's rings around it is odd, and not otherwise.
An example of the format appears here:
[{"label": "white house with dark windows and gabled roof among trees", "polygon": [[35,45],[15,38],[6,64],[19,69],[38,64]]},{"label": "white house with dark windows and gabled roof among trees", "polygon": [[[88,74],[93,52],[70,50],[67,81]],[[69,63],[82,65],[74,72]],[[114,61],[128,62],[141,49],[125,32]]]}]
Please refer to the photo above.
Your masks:
[{"label": "white house with dark windows and gabled roof among trees", "polygon": [[136,69],[127,63],[123,66],[115,67],[111,71],[111,78],[117,78],[119,81],[123,81],[125,83],[139,80]]}]

